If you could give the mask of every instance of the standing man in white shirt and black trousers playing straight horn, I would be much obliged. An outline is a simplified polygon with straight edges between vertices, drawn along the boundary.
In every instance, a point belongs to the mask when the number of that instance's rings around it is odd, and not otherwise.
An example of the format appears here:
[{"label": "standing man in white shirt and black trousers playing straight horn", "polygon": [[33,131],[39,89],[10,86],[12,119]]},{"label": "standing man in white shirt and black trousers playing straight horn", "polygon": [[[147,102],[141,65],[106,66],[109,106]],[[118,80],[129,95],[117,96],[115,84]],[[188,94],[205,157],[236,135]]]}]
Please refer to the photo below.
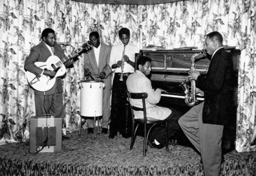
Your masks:
[{"label": "standing man in white shirt and black trousers playing straight horn", "polygon": [[120,29],[119,39],[121,42],[113,46],[110,54],[110,68],[112,68],[112,71],[115,73],[112,85],[110,115],[109,138],[111,139],[113,139],[117,135],[117,131],[120,131],[122,128],[124,104],[127,101],[126,79],[129,74],[135,72],[135,53],[139,53],[138,47],[130,41],[129,29]]}]

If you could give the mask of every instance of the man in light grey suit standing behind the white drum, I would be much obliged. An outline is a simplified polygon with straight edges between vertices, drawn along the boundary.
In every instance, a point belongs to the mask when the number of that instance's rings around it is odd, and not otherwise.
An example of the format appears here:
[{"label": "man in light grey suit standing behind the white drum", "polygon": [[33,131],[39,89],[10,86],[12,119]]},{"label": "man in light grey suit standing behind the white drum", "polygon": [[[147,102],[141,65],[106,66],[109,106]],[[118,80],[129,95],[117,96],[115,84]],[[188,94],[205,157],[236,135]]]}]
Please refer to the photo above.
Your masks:
[{"label": "man in light grey suit standing behind the white drum", "polygon": [[[105,88],[103,89],[103,117],[101,120],[102,134],[108,133],[110,121],[110,95],[111,95],[111,73],[109,67],[111,47],[100,42],[99,33],[94,31],[89,35],[93,49],[84,54],[84,76],[89,75],[96,80],[103,80]],[[81,107],[82,108],[82,107]],[[87,120],[88,133],[93,134],[94,120]]]}]

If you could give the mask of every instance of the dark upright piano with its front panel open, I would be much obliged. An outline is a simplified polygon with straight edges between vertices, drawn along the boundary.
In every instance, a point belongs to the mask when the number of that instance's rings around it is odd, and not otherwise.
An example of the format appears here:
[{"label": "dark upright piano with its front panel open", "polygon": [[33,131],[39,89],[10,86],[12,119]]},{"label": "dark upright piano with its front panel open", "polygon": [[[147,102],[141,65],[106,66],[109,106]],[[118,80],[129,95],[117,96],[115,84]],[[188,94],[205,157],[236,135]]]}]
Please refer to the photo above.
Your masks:
[{"label": "dark upright piano with its front panel open", "polygon": [[[235,47],[224,47],[225,50],[230,53],[233,61],[233,72],[236,78],[238,78],[238,62],[239,55],[241,51]],[[187,112],[191,106],[186,105],[184,91],[180,83],[188,79],[188,71],[191,68],[191,58],[193,55],[201,53],[202,50],[140,50],[136,54],[136,59],[139,56],[146,56],[152,59],[152,73],[150,79],[152,81],[153,88],[162,88],[167,91],[167,93],[162,94],[160,104],[166,107],[175,107],[184,113]],[[207,73],[210,60],[205,54],[198,54],[194,57],[196,70],[200,72],[201,75]],[[137,60],[136,60],[137,61]],[[135,67],[136,68],[136,67]],[[238,79],[236,79],[236,82]],[[188,81],[190,82],[190,81]],[[233,108],[230,109],[232,113],[232,119],[230,119],[229,126],[225,128],[223,133],[222,148],[223,152],[226,153],[234,149],[234,142],[236,140],[236,116],[237,116],[237,86],[234,87],[233,95]],[[203,101],[203,97],[198,97],[199,103]],[[184,134],[177,137],[178,140],[183,139]],[[178,143],[184,145],[191,145],[187,139],[183,141],[178,141]]]}]

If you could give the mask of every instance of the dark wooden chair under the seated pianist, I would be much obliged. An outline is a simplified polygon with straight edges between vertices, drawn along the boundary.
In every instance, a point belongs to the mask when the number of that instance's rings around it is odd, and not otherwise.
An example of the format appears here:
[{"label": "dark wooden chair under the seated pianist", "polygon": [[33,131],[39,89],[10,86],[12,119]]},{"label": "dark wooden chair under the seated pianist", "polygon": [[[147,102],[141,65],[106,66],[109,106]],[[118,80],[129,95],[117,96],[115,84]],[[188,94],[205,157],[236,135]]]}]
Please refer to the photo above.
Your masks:
[{"label": "dark wooden chair under the seated pianist", "polygon": [[[144,127],[144,142],[143,142],[143,156],[146,156],[146,150],[147,150],[147,140],[148,136],[150,135],[150,132],[152,128],[157,124],[163,124],[165,125],[165,134],[166,134],[166,140],[165,140],[165,147],[166,151],[169,152],[168,148],[168,121],[167,120],[157,120],[154,119],[154,117],[146,117],[146,105],[145,105],[145,99],[147,98],[147,93],[131,93],[127,91],[128,101],[131,107],[132,111],[132,139],[131,139],[131,145],[130,150],[133,149],[134,141],[136,138],[136,132],[138,129],[138,126],[141,124]],[[130,102],[130,99],[141,99],[143,107],[136,107],[133,106]],[[133,111],[143,111],[143,117],[140,119],[134,119],[134,113]],[[135,127],[136,126],[136,127]]]}]

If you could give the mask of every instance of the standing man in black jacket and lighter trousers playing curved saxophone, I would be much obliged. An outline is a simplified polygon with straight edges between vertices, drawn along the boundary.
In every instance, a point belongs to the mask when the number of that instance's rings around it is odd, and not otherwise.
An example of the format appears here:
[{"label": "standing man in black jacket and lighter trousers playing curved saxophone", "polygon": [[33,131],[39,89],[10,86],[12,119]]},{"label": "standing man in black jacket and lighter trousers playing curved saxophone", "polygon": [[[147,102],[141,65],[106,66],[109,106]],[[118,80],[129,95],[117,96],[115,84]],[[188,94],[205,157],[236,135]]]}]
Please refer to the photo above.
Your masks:
[{"label": "standing man in black jacket and lighter trousers playing curved saxophone", "polygon": [[206,35],[205,45],[211,60],[207,75],[204,77],[197,71],[188,73],[189,79],[196,81],[196,92],[204,95],[204,101],[179,119],[185,135],[201,154],[206,176],[220,175],[222,135],[233,96],[233,63],[222,42],[219,32]]}]

